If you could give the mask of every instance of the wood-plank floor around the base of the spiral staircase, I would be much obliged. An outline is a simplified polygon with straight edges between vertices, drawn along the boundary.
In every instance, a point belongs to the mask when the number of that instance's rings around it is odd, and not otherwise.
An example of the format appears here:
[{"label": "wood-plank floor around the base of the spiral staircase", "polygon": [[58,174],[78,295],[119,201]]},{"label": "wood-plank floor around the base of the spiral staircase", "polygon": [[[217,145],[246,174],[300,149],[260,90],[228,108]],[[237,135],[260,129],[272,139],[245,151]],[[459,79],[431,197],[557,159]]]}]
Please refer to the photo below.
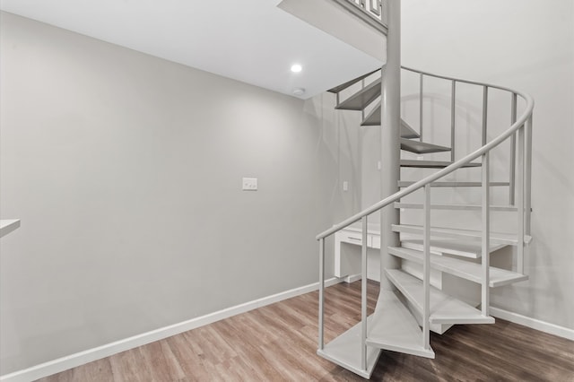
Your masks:
[{"label": "wood-plank floor around the base of the spiral staircase", "polygon": [[[361,282],[326,290],[326,341],[354,325]],[[370,310],[378,285],[370,282]],[[375,381],[574,381],[574,342],[500,319],[431,334],[435,360],[382,352]],[[317,292],[70,369],[42,382],[361,381],[316,355]]]}]

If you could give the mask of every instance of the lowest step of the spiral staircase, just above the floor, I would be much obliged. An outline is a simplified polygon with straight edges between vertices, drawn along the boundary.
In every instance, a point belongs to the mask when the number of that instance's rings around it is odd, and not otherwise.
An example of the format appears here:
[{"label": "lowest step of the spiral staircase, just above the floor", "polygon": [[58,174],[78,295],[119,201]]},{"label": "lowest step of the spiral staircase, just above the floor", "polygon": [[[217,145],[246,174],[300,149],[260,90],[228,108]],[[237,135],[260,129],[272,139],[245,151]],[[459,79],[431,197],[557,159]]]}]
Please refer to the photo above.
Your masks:
[{"label": "lowest step of the spiral staircase, just above the floor", "polygon": [[[372,317],[372,316],[371,316]],[[367,327],[369,327],[369,319]],[[317,354],[326,360],[351,370],[362,378],[369,379],[373,369],[377,365],[378,356],[381,350],[367,346],[367,369],[362,369],[361,365],[361,322],[351,329],[339,335],[330,343],[327,343],[323,350],[317,350]]]}]

